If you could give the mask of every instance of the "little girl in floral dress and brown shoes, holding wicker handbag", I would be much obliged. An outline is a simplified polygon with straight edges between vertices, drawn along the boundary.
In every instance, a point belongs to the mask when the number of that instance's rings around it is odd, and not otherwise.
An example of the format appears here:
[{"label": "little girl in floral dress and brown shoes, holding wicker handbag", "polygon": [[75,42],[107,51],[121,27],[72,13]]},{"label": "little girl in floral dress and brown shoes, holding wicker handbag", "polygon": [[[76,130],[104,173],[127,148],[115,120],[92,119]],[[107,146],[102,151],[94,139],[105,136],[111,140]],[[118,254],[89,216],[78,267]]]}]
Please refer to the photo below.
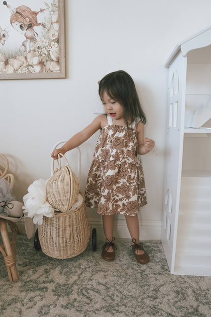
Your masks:
[{"label": "little girl in floral dress and brown shoes, holding wicker handbag", "polygon": [[51,156],[58,158],[58,153],[64,154],[79,146],[100,130],[85,198],[86,205],[97,208],[102,215],[105,234],[102,258],[106,261],[115,258],[114,215],[123,214],[136,260],[144,264],[149,262],[149,256],[139,242],[137,212],[147,204],[147,198],[138,154],[148,153],[155,142],[144,138],[146,117],[129,74],[117,71],[104,76],[99,82],[99,96],[105,114],[98,115],[84,130],[55,149]]}]

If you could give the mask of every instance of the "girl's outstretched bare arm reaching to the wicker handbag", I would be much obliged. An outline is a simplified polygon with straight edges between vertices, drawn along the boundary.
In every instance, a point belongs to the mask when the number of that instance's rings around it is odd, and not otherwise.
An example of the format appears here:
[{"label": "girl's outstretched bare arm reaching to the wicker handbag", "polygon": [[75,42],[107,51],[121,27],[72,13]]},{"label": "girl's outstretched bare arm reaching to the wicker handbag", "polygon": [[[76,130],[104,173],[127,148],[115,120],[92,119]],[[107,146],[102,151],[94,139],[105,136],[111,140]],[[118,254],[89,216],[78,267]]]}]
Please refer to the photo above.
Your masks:
[{"label": "girl's outstretched bare arm reaching to the wicker handbag", "polygon": [[74,149],[75,147],[81,145],[86,140],[88,140],[97,130],[101,128],[101,122],[104,115],[98,115],[92,123],[90,123],[85,129],[75,134],[71,139],[69,139],[61,148],[54,149],[51,153],[51,157],[56,160],[58,158],[58,153],[65,154],[67,151]]}]

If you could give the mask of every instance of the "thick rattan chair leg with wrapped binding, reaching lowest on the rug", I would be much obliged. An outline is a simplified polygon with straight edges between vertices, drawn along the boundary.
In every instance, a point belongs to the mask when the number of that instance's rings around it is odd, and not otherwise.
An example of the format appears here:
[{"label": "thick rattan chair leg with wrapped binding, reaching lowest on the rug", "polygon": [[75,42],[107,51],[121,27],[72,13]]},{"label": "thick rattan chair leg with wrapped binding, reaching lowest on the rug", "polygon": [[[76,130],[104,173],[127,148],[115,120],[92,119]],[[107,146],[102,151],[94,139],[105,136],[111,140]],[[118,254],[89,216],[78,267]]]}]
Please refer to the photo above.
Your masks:
[{"label": "thick rattan chair leg with wrapped binding, reaching lowest on the rug", "polygon": [[17,272],[17,268],[16,268],[16,264],[15,264],[15,256],[13,254],[12,248],[11,248],[11,244],[10,244],[10,239],[9,239],[9,235],[8,235],[8,230],[7,230],[7,223],[5,219],[0,219],[0,230],[1,230],[1,234],[2,234],[2,240],[4,243],[4,247],[5,247],[5,252],[6,252],[6,257],[4,257],[5,259],[5,265],[7,267],[7,270],[9,272],[11,272],[12,275],[12,280],[9,275],[9,280],[13,281],[13,282],[17,282],[18,281],[18,272]]}]

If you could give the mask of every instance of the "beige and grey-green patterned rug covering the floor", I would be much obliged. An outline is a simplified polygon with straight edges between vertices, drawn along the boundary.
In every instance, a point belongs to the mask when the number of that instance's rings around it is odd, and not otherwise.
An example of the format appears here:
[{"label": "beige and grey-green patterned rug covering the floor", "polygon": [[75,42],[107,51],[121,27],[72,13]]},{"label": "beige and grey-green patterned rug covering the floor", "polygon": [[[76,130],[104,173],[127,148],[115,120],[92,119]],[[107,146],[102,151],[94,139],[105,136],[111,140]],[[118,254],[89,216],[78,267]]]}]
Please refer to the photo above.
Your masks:
[{"label": "beige and grey-green patterned rug covering the floor", "polygon": [[144,241],[150,263],[140,265],[130,240],[116,240],[114,262],[101,259],[97,240],[79,256],[57,260],[18,236],[19,281],[10,283],[0,253],[0,316],[208,317],[211,277],[170,275],[161,241]]}]

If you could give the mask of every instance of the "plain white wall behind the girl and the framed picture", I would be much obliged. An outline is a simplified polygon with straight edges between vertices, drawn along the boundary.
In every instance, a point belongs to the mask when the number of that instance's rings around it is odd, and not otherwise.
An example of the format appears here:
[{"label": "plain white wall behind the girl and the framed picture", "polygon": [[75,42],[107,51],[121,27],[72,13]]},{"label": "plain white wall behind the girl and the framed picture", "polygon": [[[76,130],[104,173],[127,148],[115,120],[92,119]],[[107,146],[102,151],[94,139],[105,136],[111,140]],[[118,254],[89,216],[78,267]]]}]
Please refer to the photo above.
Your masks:
[{"label": "plain white wall behind the girl and the framed picture", "polygon": [[[20,4],[10,1],[14,7]],[[101,111],[97,81],[123,69],[133,77],[146,112],[146,136],[156,142],[142,157],[148,205],[139,212],[141,237],[159,239],[167,100],[163,64],[178,42],[210,24],[210,12],[209,0],[65,1],[66,79],[0,82],[0,152],[9,158],[17,199],[33,180],[49,178],[53,145]],[[97,136],[81,146],[83,191]],[[88,213],[101,236],[100,216]],[[117,217],[116,224],[116,236],[129,237],[124,218]]]}]

